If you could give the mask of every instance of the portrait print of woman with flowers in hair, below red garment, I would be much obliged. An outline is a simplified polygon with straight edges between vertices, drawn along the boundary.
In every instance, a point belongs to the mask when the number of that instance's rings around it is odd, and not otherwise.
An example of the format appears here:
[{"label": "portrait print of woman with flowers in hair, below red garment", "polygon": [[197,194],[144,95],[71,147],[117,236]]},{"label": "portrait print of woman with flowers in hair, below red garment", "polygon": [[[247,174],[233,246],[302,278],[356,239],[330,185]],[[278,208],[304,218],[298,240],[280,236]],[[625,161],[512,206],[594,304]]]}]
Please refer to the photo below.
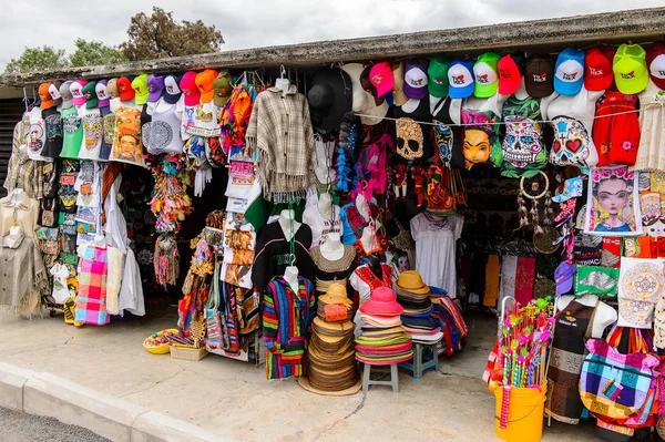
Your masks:
[{"label": "portrait print of woman with flowers in hair, below red garment", "polygon": [[642,234],[635,173],[630,172],[627,166],[597,167],[591,171],[587,207],[587,234]]}]

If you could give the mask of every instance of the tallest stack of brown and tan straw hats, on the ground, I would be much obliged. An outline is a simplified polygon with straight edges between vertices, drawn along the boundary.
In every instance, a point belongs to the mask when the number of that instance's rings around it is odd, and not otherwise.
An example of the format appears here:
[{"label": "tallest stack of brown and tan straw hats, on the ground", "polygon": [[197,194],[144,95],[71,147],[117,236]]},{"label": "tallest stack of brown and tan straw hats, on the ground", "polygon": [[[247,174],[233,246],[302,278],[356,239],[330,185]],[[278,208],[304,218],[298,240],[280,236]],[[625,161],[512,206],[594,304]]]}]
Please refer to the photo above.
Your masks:
[{"label": "tallest stack of brown and tan straw hats, on the ground", "polygon": [[355,326],[349,319],[352,305],[346,287],[340,284],[331,284],[326,295],[319,297],[307,348],[307,378],[301,378],[300,382],[306,390],[319,394],[358,391]]}]

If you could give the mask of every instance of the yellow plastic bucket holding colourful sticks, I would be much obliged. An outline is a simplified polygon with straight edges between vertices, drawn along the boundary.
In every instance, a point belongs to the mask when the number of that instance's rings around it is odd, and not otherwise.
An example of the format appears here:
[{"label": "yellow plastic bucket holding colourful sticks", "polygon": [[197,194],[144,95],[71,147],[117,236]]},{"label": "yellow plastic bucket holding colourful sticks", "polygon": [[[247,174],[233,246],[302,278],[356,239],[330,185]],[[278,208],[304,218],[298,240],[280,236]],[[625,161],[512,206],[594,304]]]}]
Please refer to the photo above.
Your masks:
[{"label": "yellow plastic bucket holding colourful sticks", "polygon": [[495,429],[497,435],[505,442],[539,442],[543,436],[543,417],[545,412],[545,397],[548,384],[539,389],[510,389],[508,405],[508,425],[501,429],[501,403],[503,401],[503,387],[497,386]]}]

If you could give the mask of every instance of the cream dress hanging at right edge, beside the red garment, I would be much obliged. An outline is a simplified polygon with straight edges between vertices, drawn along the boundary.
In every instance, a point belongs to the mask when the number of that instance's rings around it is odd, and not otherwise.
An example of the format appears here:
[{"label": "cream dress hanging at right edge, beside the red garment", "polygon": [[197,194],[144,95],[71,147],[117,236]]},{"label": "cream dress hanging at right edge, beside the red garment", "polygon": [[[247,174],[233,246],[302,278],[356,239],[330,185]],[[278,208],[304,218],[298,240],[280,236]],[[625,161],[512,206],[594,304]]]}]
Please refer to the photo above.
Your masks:
[{"label": "cream dress hanging at right edge, beside the red garment", "polygon": [[648,81],[640,94],[640,150],[634,171],[665,172],[665,92]]}]

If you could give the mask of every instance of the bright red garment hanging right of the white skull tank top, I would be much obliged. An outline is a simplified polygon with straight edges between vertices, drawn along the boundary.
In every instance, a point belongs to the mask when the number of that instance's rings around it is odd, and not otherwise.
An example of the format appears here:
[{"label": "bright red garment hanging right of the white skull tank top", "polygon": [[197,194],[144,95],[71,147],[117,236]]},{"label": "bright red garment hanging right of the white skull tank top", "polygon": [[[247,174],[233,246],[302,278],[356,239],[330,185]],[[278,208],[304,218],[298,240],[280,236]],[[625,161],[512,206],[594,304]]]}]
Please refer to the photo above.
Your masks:
[{"label": "bright red garment hanging right of the white skull tank top", "polygon": [[[635,111],[637,97],[607,91],[596,103],[593,142],[598,151],[598,166],[634,165],[640,146],[640,121]],[[611,115],[622,112],[614,116]]]}]

